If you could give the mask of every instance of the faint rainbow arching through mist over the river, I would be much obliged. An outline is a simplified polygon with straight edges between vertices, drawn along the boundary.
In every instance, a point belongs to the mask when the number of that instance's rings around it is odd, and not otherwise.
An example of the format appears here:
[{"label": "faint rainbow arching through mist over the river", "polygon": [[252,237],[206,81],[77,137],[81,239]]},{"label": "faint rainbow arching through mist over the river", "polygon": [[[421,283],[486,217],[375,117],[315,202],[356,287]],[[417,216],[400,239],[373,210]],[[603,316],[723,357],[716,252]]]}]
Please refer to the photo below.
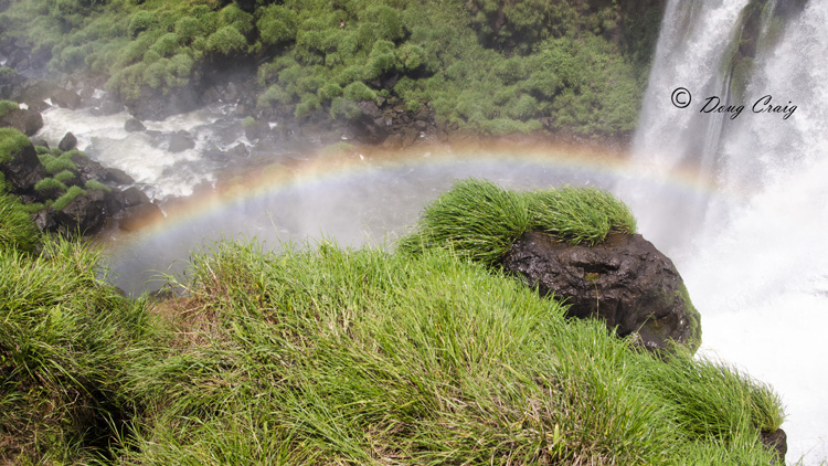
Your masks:
[{"label": "faint rainbow arching through mist over the river", "polygon": [[[448,178],[452,174],[457,174],[457,178],[475,176],[499,183],[503,183],[503,173],[517,173],[522,178],[537,178],[542,173],[561,174],[560,179],[551,183],[552,187],[595,184],[594,180],[617,182],[625,177],[633,177],[634,182],[667,186],[689,195],[718,193],[714,184],[703,180],[691,169],[680,168],[664,177],[649,172],[646,168],[635,167],[626,153],[591,146],[493,141],[485,145],[421,145],[405,151],[357,148],[323,152],[307,161],[289,165],[274,163],[244,178],[223,180],[211,192],[166,205],[167,216],[161,221],[147,224],[135,233],[110,232],[104,244],[129,247],[130,244],[151,242],[153,237],[185,230],[188,225],[209,224],[211,222],[205,219],[210,218],[213,218],[212,226],[222,230],[217,224],[230,212],[250,210],[251,205],[266,203],[266,200],[277,199],[280,194],[316,192],[319,195],[330,195],[336,201],[339,195],[337,188],[370,186],[382,179],[403,177],[406,173],[413,177],[435,173]],[[550,186],[543,180],[535,181],[535,184],[533,187]],[[444,188],[447,189],[447,186]],[[423,195],[427,197],[426,193]],[[243,221],[227,221],[227,230],[238,226],[237,223]],[[198,231],[192,232],[193,237],[190,240],[200,242],[195,237],[198,234]]]}]

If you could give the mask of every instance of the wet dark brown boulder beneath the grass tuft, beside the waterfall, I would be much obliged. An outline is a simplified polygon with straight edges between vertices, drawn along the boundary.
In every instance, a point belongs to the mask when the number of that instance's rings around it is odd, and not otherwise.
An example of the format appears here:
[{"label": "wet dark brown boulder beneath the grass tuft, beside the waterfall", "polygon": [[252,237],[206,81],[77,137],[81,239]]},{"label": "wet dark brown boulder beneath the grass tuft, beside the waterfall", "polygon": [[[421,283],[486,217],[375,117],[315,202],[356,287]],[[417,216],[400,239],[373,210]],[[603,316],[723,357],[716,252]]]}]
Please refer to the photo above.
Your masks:
[{"label": "wet dark brown boulder beneath the grass tuft, beside the waterfall", "polygon": [[598,317],[618,336],[649,349],[669,341],[692,351],[701,342],[699,313],[672,262],[641,235],[609,235],[594,246],[570,245],[539,232],[523,234],[503,258],[541,295],[570,306],[571,317]]}]

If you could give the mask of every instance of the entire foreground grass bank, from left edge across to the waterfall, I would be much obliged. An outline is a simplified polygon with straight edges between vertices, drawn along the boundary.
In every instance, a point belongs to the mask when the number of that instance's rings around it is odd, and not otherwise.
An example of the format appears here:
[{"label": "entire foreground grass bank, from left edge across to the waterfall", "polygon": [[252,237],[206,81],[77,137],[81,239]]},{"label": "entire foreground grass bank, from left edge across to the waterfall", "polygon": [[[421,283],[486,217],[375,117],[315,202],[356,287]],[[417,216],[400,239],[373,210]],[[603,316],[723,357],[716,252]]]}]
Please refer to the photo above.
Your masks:
[{"label": "entire foreground grass bank, from left edge across to the waterfall", "polygon": [[442,247],[219,243],[181,297],[130,301],[94,251],[0,210],[0,462],[771,462],[768,386]]}]

